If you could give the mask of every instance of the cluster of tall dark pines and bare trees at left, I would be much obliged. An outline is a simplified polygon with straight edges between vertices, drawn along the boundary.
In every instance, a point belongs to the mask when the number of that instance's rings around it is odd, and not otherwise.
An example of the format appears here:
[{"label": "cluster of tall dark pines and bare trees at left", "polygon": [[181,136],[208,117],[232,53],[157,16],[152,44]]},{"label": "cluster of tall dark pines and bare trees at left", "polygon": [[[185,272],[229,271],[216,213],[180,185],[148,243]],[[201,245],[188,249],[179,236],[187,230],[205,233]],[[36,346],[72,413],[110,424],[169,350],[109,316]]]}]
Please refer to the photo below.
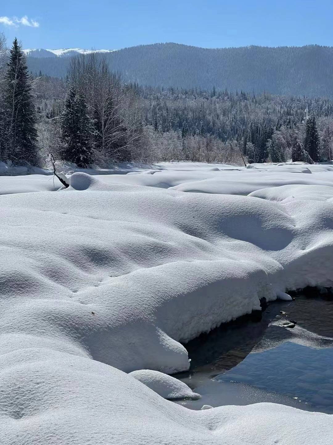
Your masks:
[{"label": "cluster of tall dark pines and bare trees at left", "polygon": [[0,161],[43,165],[49,153],[79,167],[131,161],[140,147],[139,98],[94,53],[71,60],[60,81],[28,73],[15,39],[1,49]]}]

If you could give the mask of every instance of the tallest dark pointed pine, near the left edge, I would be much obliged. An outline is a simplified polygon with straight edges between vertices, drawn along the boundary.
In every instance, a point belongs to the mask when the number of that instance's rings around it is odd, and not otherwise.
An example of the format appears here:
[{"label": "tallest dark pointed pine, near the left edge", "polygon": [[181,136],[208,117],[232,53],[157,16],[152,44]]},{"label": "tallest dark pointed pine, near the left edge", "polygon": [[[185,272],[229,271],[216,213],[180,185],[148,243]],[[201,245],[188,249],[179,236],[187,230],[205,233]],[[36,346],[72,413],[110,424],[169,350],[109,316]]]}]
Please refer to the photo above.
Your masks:
[{"label": "tallest dark pointed pine, near the left edge", "polygon": [[24,53],[17,39],[10,50],[5,77],[7,157],[34,162],[37,150],[36,112]]}]

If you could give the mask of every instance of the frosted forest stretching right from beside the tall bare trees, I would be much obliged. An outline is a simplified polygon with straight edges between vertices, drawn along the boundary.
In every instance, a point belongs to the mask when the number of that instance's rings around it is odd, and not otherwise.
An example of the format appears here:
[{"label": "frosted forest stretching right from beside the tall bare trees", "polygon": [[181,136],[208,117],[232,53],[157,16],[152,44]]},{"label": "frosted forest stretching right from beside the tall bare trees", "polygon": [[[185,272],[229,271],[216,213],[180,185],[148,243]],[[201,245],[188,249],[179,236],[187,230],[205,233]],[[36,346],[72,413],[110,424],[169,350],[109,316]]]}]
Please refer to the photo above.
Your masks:
[{"label": "frosted forest stretching right from beside the tall bare trees", "polygon": [[230,93],[214,88],[130,86],[142,98],[145,125],[159,134],[181,134],[185,142],[178,147],[190,144],[191,150],[178,149],[176,158],[221,162],[230,158],[223,156],[230,150],[238,161],[242,151],[249,162],[332,158],[333,103],[327,99]]}]

